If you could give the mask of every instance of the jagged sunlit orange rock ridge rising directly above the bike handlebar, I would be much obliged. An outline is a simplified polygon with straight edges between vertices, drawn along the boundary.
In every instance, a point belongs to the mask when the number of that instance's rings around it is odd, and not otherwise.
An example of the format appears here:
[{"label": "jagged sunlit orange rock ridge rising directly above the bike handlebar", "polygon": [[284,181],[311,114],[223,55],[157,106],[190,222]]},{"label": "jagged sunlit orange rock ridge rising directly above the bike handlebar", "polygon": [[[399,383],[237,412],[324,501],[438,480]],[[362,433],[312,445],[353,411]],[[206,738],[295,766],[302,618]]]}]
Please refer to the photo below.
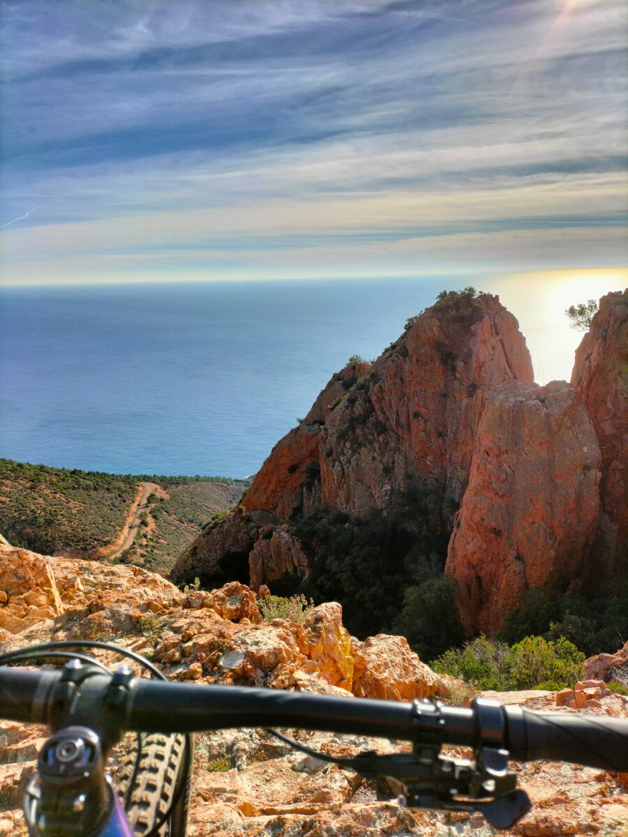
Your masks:
[{"label": "jagged sunlit orange rock ridge rising directly above the bike handlebar", "polygon": [[[55,597],[39,616],[16,619],[11,598],[19,561],[19,596],[49,591]],[[132,565],[47,557],[0,542],[0,643],[38,639],[106,639],[151,650],[175,680],[206,680],[280,689],[323,691],[411,700],[445,696],[450,679],[430,670],[402,637],[378,636],[369,644],[351,637],[342,608],[309,608],[301,622],[265,622],[255,593],[229,582],[211,591],[182,593],[157,573]],[[0,598],[4,598],[0,595]],[[390,680],[387,665],[394,670]]]}]

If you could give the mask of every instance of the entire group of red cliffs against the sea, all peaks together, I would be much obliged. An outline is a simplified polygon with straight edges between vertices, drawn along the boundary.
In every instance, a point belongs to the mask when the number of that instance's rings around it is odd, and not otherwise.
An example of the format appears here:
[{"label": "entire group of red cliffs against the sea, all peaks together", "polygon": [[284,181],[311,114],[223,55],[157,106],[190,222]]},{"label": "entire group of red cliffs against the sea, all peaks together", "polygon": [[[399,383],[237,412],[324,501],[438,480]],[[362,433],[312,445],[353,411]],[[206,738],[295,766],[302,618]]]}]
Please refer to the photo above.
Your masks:
[{"label": "entire group of red cliffs against the sea, all peaks together", "polygon": [[571,385],[540,388],[497,297],[440,295],[373,364],[332,377],[238,510],[206,527],[172,578],[237,578],[278,592],[286,579],[290,592],[314,582],[314,593],[346,605],[357,632],[360,608],[367,624],[391,600],[400,608],[404,590],[425,581],[426,567],[442,573],[445,557],[469,633],[502,629],[530,588],[620,586],[626,298],[601,300]]}]

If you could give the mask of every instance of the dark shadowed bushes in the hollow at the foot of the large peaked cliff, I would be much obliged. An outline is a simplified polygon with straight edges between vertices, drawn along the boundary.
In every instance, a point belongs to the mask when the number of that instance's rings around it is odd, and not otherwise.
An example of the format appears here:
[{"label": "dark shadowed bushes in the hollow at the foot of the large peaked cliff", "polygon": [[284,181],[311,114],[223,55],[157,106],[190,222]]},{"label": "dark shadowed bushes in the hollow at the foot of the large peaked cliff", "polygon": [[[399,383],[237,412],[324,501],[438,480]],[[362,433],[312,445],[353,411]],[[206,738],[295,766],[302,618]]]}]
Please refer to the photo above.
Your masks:
[{"label": "dark shadowed bushes in the hollow at the foot of the large peaked cliff", "polygon": [[372,509],[362,518],[322,511],[302,516],[293,531],[311,573],[301,591],[317,602],[340,602],[344,624],[359,639],[400,631],[423,659],[439,655],[463,639],[443,578],[441,512],[433,492],[408,480],[385,515]]}]

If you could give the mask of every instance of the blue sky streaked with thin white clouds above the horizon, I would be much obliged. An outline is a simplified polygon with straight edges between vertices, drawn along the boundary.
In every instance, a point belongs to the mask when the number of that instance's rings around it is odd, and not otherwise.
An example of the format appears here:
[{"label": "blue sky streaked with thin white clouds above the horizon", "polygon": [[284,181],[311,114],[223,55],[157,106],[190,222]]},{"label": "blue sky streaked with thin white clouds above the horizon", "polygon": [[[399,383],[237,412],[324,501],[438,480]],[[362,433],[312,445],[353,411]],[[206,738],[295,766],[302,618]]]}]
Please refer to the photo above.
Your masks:
[{"label": "blue sky streaked with thin white clouds above the horizon", "polygon": [[626,0],[0,9],[7,285],[628,265]]}]

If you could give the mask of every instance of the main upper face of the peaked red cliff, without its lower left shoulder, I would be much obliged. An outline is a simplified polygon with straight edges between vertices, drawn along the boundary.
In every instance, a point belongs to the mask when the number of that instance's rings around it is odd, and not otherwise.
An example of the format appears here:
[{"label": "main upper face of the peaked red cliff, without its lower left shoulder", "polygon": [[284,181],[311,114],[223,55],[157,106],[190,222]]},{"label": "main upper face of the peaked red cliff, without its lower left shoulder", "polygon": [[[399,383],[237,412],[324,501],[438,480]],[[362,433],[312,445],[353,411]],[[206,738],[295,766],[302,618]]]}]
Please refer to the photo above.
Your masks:
[{"label": "main upper face of the peaked red cliff, without its lower left shoulder", "polygon": [[461,500],[486,392],[533,380],[517,320],[499,298],[425,311],[322,430],[322,501],[363,515],[385,508],[409,475]]}]

